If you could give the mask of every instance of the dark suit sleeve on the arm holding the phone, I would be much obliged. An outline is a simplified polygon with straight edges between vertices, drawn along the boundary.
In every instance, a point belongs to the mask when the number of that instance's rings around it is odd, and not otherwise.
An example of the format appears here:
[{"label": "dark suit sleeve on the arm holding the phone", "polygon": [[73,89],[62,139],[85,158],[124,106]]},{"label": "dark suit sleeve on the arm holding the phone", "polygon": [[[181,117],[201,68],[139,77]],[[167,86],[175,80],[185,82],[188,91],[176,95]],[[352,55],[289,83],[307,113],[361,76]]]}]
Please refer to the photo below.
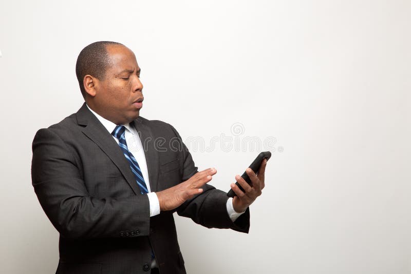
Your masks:
[{"label": "dark suit sleeve on the arm holding the phone", "polygon": [[[194,165],[191,153],[182,142],[180,135],[173,126],[171,127],[179,142],[180,161],[183,166],[182,181],[186,181],[198,172],[198,169]],[[231,228],[248,233],[250,228],[249,208],[233,222],[227,212],[227,193],[209,184],[204,185],[202,189],[203,192],[201,194],[185,201],[177,208],[177,213],[180,216],[191,218],[197,224],[208,228]]]}]

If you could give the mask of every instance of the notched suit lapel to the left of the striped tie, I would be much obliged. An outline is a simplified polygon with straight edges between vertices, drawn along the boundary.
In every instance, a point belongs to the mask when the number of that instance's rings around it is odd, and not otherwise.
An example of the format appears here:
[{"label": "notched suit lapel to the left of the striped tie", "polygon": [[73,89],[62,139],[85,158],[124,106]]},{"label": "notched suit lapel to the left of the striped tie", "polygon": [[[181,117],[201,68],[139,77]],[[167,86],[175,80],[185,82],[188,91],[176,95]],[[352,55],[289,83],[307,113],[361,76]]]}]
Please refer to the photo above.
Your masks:
[{"label": "notched suit lapel to the left of the striped tie", "polygon": [[104,153],[118,167],[134,193],[139,194],[140,189],[136,183],[136,178],[134,177],[129,163],[125,159],[120,147],[113,139],[113,136],[111,136],[107,129],[100,123],[97,117],[90,112],[85,103],[76,115],[78,124],[85,126],[82,129],[83,133],[104,151]]}]

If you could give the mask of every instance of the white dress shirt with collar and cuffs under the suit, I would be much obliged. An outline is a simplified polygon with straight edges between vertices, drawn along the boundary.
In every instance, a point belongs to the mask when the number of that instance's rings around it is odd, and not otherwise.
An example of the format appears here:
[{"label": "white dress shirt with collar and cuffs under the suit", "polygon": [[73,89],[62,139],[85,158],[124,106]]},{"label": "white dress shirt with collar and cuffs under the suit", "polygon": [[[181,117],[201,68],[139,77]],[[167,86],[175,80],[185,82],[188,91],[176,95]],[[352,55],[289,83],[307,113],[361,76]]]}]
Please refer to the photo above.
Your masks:
[{"label": "white dress shirt with collar and cuffs under the suit", "polygon": [[[88,106],[87,106],[88,107]],[[103,124],[103,126],[107,129],[107,131],[111,134],[113,130],[116,128],[116,124],[113,122],[104,119],[102,116],[94,112],[92,109],[88,107],[88,109],[93,113],[97,119]],[[133,154],[134,158],[136,158],[138,165],[140,166],[141,173],[143,174],[143,178],[145,184],[147,185],[147,196],[148,202],[150,203],[150,217],[156,216],[160,214],[160,203],[157,198],[156,192],[151,192],[150,188],[150,179],[148,178],[148,169],[147,169],[147,162],[145,160],[145,154],[143,145],[141,144],[140,136],[137,133],[135,127],[130,126],[130,124],[123,125],[125,127],[125,141],[127,143],[128,150]],[[114,140],[116,140],[117,144],[119,140],[113,136]],[[230,216],[231,221],[237,220],[237,218],[244,212],[236,212],[233,208],[233,198],[229,198],[227,201],[227,212]]]}]

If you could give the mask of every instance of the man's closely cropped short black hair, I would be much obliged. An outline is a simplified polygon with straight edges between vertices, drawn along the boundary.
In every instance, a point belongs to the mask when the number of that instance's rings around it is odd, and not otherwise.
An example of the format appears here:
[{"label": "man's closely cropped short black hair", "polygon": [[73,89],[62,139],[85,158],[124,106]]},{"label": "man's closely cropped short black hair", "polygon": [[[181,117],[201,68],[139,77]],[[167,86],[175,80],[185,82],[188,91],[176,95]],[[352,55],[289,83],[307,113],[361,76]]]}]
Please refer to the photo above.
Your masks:
[{"label": "man's closely cropped short black hair", "polygon": [[121,45],[121,43],[110,41],[99,41],[91,43],[79,54],[76,63],[76,75],[79,81],[81,94],[86,98],[86,91],[84,89],[84,76],[89,74],[96,77],[98,80],[103,80],[107,67],[110,65],[110,58],[107,54],[108,45]]}]

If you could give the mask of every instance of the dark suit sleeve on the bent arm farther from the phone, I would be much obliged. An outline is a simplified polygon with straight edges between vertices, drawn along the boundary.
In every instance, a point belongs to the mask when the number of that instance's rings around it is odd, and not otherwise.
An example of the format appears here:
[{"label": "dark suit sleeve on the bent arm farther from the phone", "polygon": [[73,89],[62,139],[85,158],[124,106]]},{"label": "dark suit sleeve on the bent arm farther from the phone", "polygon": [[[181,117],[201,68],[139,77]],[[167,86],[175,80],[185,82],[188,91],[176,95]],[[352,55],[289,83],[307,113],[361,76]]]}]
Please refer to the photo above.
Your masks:
[{"label": "dark suit sleeve on the bent arm farther from the phone", "polygon": [[79,169],[76,151],[52,129],[33,140],[31,176],[34,191],[53,226],[65,238],[147,236],[147,195],[126,199],[91,197]]}]

